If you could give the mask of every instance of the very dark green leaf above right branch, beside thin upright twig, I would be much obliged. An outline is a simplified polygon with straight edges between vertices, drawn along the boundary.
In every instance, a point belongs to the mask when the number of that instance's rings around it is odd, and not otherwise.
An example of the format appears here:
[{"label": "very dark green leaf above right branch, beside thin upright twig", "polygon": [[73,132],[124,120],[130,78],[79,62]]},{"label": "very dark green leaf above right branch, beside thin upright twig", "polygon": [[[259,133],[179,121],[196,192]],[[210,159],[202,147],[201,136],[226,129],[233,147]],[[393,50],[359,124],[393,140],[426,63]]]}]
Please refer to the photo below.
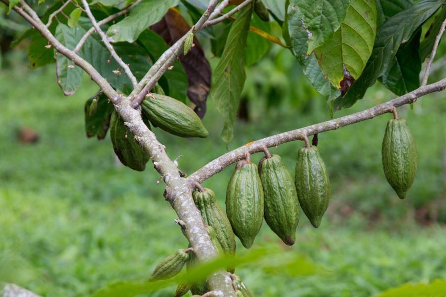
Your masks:
[{"label": "very dark green leaf above right branch, beside thin upright twig", "polygon": [[418,30],[410,42],[400,46],[386,73],[380,78],[381,82],[398,96],[420,86],[420,35],[421,30]]}]

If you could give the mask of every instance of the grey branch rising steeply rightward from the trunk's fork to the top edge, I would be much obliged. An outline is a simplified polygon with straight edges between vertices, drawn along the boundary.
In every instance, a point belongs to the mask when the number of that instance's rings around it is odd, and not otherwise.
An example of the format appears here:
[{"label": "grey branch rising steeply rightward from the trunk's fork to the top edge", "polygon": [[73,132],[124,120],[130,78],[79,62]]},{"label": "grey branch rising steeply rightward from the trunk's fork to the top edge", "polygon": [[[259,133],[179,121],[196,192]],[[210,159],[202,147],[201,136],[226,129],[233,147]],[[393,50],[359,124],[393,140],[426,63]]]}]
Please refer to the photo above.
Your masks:
[{"label": "grey branch rising steeply rightward from the trunk's fork to the top edge", "polygon": [[192,32],[196,33],[202,29],[204,23],[208,20],[210,14],[215,9],[219,0],[211,0],[206,11],[204,11],[202,17],[198,22],[189,30],[183,37],[178,39],[169,49],[167,49],[161,57],[155,62],[155,64],[149,69],[144,77],[139,82],[138,86],[134,88],[130,94],[130,98],[133,98],[132,106],[137,107],[144,100],[145,96],[149,93],[150,89],[161,78],[162,74],[175,62],[175,60],[181,55],[184,47],[184,40],[186,36]]}]

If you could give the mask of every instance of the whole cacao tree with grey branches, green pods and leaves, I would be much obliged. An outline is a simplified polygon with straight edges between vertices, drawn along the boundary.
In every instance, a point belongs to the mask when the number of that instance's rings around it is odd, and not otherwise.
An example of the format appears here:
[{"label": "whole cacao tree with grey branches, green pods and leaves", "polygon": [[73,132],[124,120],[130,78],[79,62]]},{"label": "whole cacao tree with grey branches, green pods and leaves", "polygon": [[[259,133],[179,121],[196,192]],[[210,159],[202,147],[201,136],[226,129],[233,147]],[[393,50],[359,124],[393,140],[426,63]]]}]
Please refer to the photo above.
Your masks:
[{"label": "whole cacao tree with grey branches, green pods and leaves", "polygon": [[[156,266],[149,282],[125,290],[110,287],[97,296],[134,296],[171,279],[184,266],[192,273],[195,265],[231,257],[235,236],[250,248],[263,219],[287,245],[294,244],[299,215],[323,227],[330,182],[317,136],[326,131],[392,115],[382,163],[389,184],[405,198],[416,175],[417,155],[410,123],[398,117],[397,108],[446,88],[446,78],[429,81],[446,26],[444,0],[1,2],[31,25],[13,45],[31,39],[32,68],[56,63],[56,81],[66,96],[80,87],[83,73],[97,84],[97,93],[85,103],[87,136],[101,140],[110,130],[116,155],[130,169],[152,170],[146,165],[153,162],[165,184],[164,197],[189,241],[189,247]],[[271,28],[276,28],[274,34]],[[272,43],[292,52],[307,79],[325,96],[331,119],[252,141],[192,174],[182,172],[156,133],[206,141],[199,139],[209,134],[201,118],[211,98],[224,119],[221,138],[231,142],[245,69],[261,60]],[[220,57],[213,67],[209,54]],[[377,80],[396,98],[335,117],[335,111],[362,100]],[[304,144],[294,178],[280,156],[268,150],[291,141]],[[259,166],[250,161],[254,153],[265,154]],[[201,184],[234,163],[225,212],[212,189]],[[233,274],[231,261],[220,267],[225,269],[210,271],[201,282],[180,283],[175,296],[189,290],[203,296],[251,296]]]}]

